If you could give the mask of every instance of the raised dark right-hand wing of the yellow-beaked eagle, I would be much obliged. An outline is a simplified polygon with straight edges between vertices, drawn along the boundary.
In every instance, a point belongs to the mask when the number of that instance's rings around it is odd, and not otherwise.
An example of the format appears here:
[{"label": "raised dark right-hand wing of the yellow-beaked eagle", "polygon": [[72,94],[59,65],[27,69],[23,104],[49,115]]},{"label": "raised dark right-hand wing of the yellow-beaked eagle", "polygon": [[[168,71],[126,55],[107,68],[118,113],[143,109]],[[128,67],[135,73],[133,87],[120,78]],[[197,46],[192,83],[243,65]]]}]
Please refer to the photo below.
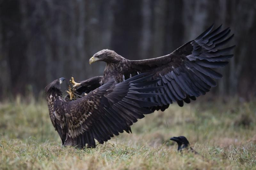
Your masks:
[{"label": "raised dark right-hand wing of the yellow-beaked eagle", "polygon": [[220,31],[220,26],[211,32],[212,28],[213,25],[195,40],[189,41],[171,54],[147,60],[128,61],[128,74],[133,74],[134,71],[153,72],[153,79],[161,78],[154,86],[164,86],[156,90],[163,95],[149,99],[159,103],[160,107],[155,109],[164,110],[173,101],[183,106],[182,100],[189,103],[190,99],[196,100],[196,97],[217,85],[213,79],[219,79],[222,75],[212,68],[227,65],[227,60],[233,57],[230,51],[235,46],[224,49],[221,47],[234,34],[228,37],[229,28]]}]

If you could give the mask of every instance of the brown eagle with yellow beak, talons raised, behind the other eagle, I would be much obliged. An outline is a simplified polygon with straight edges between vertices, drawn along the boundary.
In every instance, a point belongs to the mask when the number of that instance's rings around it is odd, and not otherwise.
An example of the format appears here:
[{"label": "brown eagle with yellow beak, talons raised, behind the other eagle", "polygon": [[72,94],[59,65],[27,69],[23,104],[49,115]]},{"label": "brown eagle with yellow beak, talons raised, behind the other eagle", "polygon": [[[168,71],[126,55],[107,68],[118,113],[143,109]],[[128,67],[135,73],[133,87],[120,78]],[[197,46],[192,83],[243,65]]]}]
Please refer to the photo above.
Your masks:
[{"label": "brown eagle with yellow beak, talons raised, behind the other eagle", "polygon": [[161,95],[148,98],[148,101],[158,103],[158,106],[150,109],[164,111],[175,101],[182,107],[183,101],[190,103],[190,99],[196,100],[196,97],[204,95],[211,87],[216,86],[213,79],[219,79],[222,75],[212,68],[227,65],[228,59],[233,57],[230,52],[235,46],[221,49],[234,36],[232,34],[228,37],[229,27],[223,31],[221,25],[213,31],[212,28],[213,25],[195,40],[187,42],[172,53],[152,59],[128,60],[113,50],[103,49],[89,60],[90,64],[98,61],[107,63],[103,76],[81,83],[72,81],[73,90],[81,94],[84,83],[90,85],[90,82],[93,82],[95,87],[98,87],[111,79],[120,83],[136,74],[150,72],[153,74],[152,79],[159,81],[149,86],[164,86],[154,91]]}]

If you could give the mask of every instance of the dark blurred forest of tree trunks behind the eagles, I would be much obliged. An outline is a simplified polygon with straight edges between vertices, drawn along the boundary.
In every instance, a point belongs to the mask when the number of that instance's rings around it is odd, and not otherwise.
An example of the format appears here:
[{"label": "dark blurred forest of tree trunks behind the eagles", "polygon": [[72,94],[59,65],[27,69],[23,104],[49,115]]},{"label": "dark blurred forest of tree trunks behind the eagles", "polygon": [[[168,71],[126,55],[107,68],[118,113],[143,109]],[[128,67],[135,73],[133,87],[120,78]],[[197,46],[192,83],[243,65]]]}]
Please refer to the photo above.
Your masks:
[{"label": "dark blurred forest of tree trunks behind the eagles", "polygon": [[169,54],[213,23],[230,26],[236,48],[212,92],[255,96],[255,0],[0,0],[0,97],[102,75],[105,63],[88,61],[104,48],[127,59]]}]

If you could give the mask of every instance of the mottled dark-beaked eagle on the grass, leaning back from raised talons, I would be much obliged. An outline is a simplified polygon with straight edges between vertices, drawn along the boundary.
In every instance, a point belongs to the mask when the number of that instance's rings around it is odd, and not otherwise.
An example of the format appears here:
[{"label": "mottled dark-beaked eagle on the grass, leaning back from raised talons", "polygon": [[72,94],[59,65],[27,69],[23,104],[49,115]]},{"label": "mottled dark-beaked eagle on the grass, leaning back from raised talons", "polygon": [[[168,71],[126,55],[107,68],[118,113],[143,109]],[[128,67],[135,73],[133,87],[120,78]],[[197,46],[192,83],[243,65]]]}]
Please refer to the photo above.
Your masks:
[{"label": "mottled dark-beaked eagle on the grass, leaning back from raised talons", "polygon": [[66,79],[52,81],[45,87],[46,101],[52,125],[62,145],[95,148],[95,139],[103,144],[114,135],[132,132],[130,126],[137,119],[152,113],[145,107],[157,105],[141,100],[155,96],[156,93],[150,92],[152,89],[162,88],[143,88],[158,81],[148,81],[152,76],[142,73],[117,84],[110,80],[72,101],[62,99],[60,86]]}]

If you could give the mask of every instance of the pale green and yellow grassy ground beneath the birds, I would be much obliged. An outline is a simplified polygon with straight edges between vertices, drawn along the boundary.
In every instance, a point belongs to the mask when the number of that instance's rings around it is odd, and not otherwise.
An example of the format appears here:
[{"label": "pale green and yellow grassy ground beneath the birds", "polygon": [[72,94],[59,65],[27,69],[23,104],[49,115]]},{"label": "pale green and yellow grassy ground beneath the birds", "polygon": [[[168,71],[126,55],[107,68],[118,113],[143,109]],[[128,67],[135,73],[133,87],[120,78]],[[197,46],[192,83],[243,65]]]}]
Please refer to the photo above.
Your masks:
[{"label": "pale green and yellow grassy ground beneath the birds", "polygon": [[[0,103],[0,169],[256,169],[256,102],[207,101],[146,115],[96,149],[62,147],[46,102]],[[177,153],[173,136],[200,153]]]}]

